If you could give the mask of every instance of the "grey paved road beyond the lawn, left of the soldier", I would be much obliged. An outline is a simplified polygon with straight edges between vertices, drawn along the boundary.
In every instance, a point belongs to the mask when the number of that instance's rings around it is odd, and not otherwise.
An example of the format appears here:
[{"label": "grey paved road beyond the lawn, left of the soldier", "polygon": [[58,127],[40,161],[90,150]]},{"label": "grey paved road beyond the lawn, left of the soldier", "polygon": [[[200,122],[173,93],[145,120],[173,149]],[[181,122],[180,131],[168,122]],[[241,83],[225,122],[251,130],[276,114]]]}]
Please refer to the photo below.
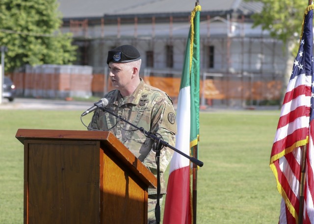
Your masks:
[{"label": "grey paved road beyond the lawn, left of the soldier", "polygon": [[47,100],[47,99],[26,99],[16,98],[13,102],[3,99],[0,104],[1,109],[8,110],[81,110],[84,112],[93,106],[94,102],[74,101],[74,100]]}]

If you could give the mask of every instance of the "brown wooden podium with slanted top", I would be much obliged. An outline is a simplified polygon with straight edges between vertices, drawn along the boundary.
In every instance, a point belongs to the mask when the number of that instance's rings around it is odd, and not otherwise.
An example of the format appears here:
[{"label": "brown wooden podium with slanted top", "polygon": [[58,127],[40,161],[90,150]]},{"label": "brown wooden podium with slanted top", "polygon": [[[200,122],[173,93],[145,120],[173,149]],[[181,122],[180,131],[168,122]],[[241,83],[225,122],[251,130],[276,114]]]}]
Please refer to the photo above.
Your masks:
[{"label": "brown wooden podium with slanted top", "polygon": [[107,131],[19,129],[24,224],[147,224],[156,177]]}]

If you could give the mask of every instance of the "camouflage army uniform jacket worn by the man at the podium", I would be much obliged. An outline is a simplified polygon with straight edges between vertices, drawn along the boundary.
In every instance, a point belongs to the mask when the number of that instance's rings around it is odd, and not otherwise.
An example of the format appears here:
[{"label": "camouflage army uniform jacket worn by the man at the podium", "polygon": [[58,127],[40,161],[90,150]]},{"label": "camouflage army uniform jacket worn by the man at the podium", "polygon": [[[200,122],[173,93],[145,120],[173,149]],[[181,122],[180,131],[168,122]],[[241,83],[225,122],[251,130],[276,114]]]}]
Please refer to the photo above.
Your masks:
[{"label": "camouflage army uniform jacket worn by the man at the podium", "polygon": [[[153,134],[159,133],[165,142],[175,146],[177,125],[172,100],[161,90],[140,84],[129,97],[122,97],[120,91],[113,90],[105,95],[108,100],[106,108],[121,118],[143,127]],[[155,176],[157,176],[156,152],[154,141],[135,128],[102,110],[96,110],[89,124],[90,128],[112,132]],[[160,151],[160,186],[161,194],[166,193],[163,173],[165,172],[173,150],[163,148]],[[156,194],[156,189],[149,189],[149,194]]]}]

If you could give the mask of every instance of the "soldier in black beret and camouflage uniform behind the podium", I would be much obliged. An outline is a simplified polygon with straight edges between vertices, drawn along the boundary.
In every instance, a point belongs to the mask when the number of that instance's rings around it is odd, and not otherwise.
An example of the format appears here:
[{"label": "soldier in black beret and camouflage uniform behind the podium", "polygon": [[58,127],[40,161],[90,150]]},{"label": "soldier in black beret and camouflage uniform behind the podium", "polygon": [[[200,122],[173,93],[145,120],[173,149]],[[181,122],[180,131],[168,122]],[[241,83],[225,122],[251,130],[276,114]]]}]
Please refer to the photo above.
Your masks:
[{"label": "soldier in black beret and camouflage uniform behind the podium", "polygon": [[[177,125],[172,100],[163,91],[145,84],[139,77],[141,56],[136,48],[123,45],[109,50],[107,57],[109,76],[115,90],[105,94],[108,100],[106,108],[120,115],[131,124],[143,127],[175,146]],[[157,176],[156,152],[154,141],[145,137],[134,127],[109,113],[96,110],[89,124],[90,128],[112,132],[155,176]],[[160,204],[166,193],[163,173],[165,172],[173,150],[160,151]],[[148,224],[155,224],[155,206],[157,190],[148,190]]]}]

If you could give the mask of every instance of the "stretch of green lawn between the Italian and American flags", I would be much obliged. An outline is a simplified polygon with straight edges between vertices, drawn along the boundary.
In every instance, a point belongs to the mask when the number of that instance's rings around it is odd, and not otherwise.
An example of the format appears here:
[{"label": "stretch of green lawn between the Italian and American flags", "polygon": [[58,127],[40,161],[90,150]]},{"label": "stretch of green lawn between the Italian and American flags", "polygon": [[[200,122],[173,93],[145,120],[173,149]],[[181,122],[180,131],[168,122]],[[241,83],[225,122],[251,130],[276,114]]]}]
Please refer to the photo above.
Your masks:
[{"label": "stretch of green lawn between the Italian and American flags", "polygon": [[201,114],[199,224],[277,224],[280,195],[269,169],[279,111]]}]

